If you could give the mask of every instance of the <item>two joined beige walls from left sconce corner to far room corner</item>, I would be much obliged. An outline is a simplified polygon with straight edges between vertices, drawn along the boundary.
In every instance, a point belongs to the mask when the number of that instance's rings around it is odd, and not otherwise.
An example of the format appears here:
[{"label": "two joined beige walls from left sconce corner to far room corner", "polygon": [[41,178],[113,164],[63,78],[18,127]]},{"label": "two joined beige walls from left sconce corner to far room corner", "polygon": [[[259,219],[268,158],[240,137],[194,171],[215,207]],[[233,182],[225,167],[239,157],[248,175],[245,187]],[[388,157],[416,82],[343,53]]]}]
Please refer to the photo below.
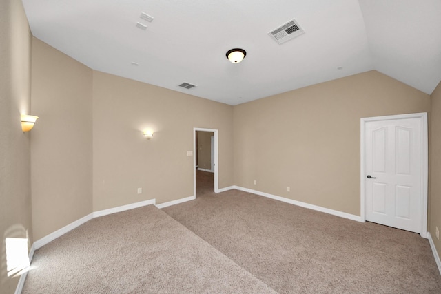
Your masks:
[{"label": "two joined beige walls from left sconce corner to far room corner", "polygon": [[92,211],[192,196],[193,127],[219,129],[219,183],[232,185],[232,106],[94,72],[35,38],[32,105],[36,240]]}]

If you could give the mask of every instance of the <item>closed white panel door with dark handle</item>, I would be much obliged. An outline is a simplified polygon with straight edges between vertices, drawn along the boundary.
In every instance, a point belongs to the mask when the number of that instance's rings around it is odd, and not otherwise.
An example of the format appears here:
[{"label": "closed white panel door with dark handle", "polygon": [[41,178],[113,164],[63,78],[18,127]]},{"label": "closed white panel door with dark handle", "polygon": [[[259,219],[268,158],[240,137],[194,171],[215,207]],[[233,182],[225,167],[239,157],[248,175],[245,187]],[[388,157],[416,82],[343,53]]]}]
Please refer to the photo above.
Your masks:
[{"label": "closed white panel door with dark handle", "polygon": [[422,233],[422,119],[365,122],[366,220]]}]

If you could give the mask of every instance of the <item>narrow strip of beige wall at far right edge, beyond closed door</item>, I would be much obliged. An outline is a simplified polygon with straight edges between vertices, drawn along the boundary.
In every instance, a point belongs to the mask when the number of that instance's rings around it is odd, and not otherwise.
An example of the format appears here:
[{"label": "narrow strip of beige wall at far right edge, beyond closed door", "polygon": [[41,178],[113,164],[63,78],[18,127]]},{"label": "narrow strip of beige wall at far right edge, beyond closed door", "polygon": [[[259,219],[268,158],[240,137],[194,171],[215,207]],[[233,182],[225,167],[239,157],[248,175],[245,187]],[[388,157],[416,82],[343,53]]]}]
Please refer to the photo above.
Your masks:
[{"label": "narrow strip of beige wall at far right edge, beyond closed door", "polygon": [[441,230],[441,82],[431,94],[431,199],[429,207],[429,232],[438,255],[441,242],[436,238],[435,227]]}]

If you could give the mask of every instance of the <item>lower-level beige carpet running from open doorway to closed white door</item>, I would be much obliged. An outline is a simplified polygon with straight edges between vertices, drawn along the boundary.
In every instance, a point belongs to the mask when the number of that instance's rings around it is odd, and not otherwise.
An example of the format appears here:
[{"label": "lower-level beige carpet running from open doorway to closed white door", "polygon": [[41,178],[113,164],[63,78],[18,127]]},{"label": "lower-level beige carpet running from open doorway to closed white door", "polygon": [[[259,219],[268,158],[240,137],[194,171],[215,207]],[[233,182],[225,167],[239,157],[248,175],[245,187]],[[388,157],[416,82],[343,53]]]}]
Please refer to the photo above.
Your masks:
[{"label": "lower-level beige carpet running from open doorway to closed white door", "polygon": [[232,190],[163,209],[280,293],[441,293],[428,240]]}]

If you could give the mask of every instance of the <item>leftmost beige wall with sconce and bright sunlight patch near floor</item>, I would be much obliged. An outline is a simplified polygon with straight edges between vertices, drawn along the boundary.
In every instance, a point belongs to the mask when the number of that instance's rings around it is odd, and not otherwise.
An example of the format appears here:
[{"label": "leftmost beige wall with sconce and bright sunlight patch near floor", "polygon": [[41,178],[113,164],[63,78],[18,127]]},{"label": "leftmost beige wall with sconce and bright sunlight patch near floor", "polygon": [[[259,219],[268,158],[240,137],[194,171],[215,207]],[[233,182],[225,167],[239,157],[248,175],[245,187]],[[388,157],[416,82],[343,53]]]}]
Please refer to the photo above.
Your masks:
[{"label": "leftmost beige wall with sconce and bright sunlight patch near floor", "polygon": [[6,238],[32,244],[30,136],[20,114],[30,108],[31,35],[19,0],[0,1],[0,292],[14,293],[19,276],[8,277]]}]

